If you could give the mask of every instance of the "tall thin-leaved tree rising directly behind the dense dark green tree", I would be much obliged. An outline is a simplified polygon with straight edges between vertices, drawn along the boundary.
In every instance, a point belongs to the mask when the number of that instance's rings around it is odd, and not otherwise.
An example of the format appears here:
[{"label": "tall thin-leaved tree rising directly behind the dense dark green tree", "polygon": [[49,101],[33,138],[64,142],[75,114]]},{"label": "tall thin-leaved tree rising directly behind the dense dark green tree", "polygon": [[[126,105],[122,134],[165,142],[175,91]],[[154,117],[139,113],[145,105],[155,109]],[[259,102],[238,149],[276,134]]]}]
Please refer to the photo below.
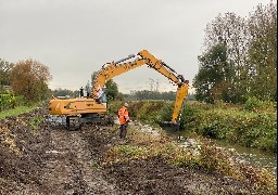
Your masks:
[{"label": "tall thin-leaved tree rising directly behind the dense dark green tree", "polygon": [[208,53],[213,47],[218,44],[226,47],[226,57],[230,67],[230,80],[219,83],[214,89],[216,96],[222,94],[223,89],[229,89],[229,102],[239,102],[247,91],[247,51],[249,47],[248,28],[245,20],[235,13],[219,14],[205,29],[205,52]]}]

